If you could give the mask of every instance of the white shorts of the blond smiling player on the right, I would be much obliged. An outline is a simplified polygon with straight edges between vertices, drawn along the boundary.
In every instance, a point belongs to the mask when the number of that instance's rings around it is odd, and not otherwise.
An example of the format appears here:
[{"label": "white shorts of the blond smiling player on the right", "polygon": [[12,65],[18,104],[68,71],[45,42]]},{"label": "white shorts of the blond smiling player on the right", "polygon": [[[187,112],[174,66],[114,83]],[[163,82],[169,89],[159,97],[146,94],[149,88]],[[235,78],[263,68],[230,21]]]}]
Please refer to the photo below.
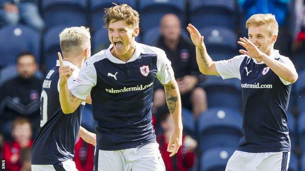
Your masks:
[{"label": "white shorts of the blond smiling player on the right", "polygon": [[225,171],[287,171],[290,152],[240,152],[230,157]]}]

